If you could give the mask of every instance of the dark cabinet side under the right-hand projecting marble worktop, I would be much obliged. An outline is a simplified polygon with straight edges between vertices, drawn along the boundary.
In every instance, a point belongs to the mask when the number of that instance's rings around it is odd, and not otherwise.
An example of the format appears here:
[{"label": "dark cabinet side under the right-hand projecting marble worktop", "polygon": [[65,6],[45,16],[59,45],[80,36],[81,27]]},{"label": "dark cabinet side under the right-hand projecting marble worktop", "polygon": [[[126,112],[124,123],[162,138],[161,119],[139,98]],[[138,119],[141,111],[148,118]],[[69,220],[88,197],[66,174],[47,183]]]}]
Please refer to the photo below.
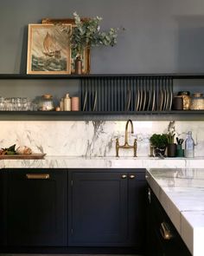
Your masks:
[{"label": "dark cabinet side under the right-hand projecting marble worktop", "polygon": [[147,255],[191,256],[179,233],[151,189],[148,189]]}]

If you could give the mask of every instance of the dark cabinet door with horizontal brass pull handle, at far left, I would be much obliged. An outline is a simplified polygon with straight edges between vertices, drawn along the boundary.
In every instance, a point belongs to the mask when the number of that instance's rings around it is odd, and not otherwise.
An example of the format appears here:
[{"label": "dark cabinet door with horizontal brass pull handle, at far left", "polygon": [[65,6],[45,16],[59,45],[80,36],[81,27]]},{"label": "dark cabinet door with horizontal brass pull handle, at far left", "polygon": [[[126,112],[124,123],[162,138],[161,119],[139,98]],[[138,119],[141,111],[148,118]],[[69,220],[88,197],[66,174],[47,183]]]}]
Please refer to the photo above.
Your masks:
[{"label": "dark cabinet door with horizontal brass pull handle, at far left", "polygon": [[66,246],[66,171],[8,172],[8,245]]}]

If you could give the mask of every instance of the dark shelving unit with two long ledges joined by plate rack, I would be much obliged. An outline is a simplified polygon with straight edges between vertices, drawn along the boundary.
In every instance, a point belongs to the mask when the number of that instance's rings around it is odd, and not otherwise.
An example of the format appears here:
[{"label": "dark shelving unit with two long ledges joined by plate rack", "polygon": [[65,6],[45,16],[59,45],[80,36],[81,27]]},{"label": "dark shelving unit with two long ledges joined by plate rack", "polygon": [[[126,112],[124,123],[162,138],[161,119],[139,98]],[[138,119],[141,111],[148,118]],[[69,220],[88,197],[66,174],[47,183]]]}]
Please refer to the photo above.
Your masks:
[{"label": "dark shelving unit with two long ledges joined by plate rack", "polygon": [[[0,120],[126,121],[131,118],[131,120],[135,121],[204,121],[204,110],[169,110],[171,109],[171,100],[174,92],[173,81],[176,79],[204,79],[204,73],[89,75],[0,74],[0,80],[53,79],[79,80],[77,83],[80,88],[80,105],[81,108],[86,111],[0,111]],[[70,85],[70,88],[71,86],[72,85]],[[161,103],[161,89],[163,89],[163,94],[166,94],[166,98],[168,98],[167,95],[171,95],[171,100],[163,100],[163,103]],[[143,100],[138,104],[139,96],[137,97],[137,95],[141,95],[141,92],[145,97],[143,96]],[[91,111],[93,109],[96,111]],[[123,111],[124,109],[128,111]],[[165,110],[159,111],[159,109]]]}]

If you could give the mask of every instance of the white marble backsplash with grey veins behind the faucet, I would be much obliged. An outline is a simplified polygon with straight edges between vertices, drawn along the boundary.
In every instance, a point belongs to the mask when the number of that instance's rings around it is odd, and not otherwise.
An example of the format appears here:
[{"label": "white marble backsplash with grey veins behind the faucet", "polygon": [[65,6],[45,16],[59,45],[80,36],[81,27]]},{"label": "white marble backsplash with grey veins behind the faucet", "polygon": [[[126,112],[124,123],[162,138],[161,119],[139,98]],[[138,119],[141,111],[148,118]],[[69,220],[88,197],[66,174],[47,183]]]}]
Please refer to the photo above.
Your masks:
[{"label": "white marble backsplash with grey veins behind the faucet", "polygon": [[[34,153],[65,156],[115,156],[115,142],[124,143],[126,121],[0,121],[0,148],[28,146]],[[137,156],[150,154],[149,138],[166,133],[169,121],[133,121]],[[176,136],[186,139],[193,132],[195,156],[204,156],[204,121],[175,121]],[[184,145],[183,145],[184,147]],[[120,156],[133,156],[132,149],[119,149]]]}]

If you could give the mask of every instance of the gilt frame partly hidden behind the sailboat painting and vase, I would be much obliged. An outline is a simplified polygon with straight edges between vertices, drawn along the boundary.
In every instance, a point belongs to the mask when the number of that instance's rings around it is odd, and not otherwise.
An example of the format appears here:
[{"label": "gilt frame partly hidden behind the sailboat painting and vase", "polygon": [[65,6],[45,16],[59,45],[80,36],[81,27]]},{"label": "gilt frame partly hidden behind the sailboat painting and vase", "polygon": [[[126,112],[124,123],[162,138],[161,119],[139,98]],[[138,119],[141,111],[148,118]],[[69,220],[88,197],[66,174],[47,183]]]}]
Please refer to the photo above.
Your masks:
[{"label": "gilt frame partly hidden behind the sailboat painting and vase", "polygon": [[[82,18],[81,21],[84,22],[88,18]],[[71,24],[72,28],[74,28],[75,23],[74,19],[72,18],[64,18],[64,19],[52,19],[52,18],[43,18],[41,20],[42,24],[56,24],[56,23],[61,23],[61,24]],[[77,56],[77,53],[72,50],[71,47],[71,73],[75,73],[75,67],[74,67],[74,60]],[[85,49],[83,52],[83,55],[81,56],[82,60],[82,73],[83,74],[89,74],[90,73],[90,49]]]}]

